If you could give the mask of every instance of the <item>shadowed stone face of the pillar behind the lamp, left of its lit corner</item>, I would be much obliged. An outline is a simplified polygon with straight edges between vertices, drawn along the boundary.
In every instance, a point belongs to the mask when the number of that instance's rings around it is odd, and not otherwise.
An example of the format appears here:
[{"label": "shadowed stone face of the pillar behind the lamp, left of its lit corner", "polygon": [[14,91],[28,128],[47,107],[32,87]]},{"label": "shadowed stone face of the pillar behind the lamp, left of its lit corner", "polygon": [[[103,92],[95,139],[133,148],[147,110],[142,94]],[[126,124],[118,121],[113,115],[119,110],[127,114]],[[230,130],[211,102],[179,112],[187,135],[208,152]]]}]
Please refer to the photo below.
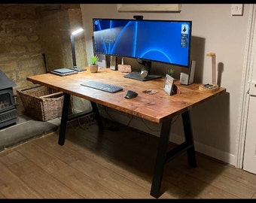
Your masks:
[{"label": "shadowed stone face of the pillar behind the lamp, left of its lit corner", "polygon": [[66,10],[44,11],[40,14],[39,22],[47,71],[72,67],[68,12]]}]

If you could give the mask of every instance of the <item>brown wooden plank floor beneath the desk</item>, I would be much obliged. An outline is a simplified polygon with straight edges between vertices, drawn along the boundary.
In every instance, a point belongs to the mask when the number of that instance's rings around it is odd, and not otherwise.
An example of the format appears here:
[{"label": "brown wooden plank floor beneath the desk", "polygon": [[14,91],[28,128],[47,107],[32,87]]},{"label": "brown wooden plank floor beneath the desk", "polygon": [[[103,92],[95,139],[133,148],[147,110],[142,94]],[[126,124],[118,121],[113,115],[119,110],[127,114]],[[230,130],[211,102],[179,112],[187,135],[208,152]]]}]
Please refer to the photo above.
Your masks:
[{"label": "brown wooden plank floor beneath the desk", "polygon": [[[123,126],[99,132],[96,124],[72,121],[63,146],[53,132],[0,152],[0,198],[154,198],[157,141]],[[199,153],[190,168],[184,153],[166,165],[161,192],[160,198],[256,198],[256,175]]]}]

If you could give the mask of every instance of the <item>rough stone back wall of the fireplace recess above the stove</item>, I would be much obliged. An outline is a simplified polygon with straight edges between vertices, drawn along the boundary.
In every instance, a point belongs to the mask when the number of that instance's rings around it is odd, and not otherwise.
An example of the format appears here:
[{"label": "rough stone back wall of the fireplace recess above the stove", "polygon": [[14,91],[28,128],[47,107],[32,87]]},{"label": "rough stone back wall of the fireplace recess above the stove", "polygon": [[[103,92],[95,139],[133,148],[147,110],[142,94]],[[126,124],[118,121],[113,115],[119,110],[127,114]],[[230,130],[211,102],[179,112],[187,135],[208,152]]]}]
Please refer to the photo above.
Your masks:
[{"label": "rough stone back wall of the fireplace recess above the stove", "polygon": [[17,83],[30,86],[26,77],[45,72],[34,6],[0,5],[0,68]]}]

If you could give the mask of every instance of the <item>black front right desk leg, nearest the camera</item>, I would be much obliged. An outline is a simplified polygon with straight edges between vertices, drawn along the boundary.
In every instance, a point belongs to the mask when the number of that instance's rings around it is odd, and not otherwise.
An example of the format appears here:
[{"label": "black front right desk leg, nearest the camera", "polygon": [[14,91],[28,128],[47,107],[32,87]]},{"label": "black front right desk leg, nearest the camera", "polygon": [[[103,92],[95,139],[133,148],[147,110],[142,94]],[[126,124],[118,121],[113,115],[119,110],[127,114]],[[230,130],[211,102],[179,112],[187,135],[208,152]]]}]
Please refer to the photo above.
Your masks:
[{"label": "black front right desk leg, nearest the camera", "polygon": [[163,169],[166,164],[166,153],[169,144],[169,133],[171,130],[172,120],[166,120],[162,123],[162,129],[160,132],[160,138],[158,141],[156,163],[154,165],[154,174],[151,184],[151,195],[154,198],[159,198],[160,189],[163,177]]}]

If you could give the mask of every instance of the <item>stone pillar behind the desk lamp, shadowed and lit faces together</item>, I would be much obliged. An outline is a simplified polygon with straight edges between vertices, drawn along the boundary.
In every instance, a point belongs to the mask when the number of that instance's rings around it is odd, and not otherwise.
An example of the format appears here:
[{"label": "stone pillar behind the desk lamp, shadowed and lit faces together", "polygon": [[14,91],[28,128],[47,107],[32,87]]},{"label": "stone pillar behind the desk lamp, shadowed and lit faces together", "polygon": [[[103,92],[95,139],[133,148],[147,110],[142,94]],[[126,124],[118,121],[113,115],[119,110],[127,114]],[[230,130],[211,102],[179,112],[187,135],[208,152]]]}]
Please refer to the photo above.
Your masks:
[{"label": "stone pillar behind the desk lamp, shadowed and lit faces together", "polygon": [[[40,14],[41,41],[47,59],[47,71],[72,68],[71,32],[83,27],[81,9],[44,11]],[[84,33],[75,36],[75,55],[78,67],[87,65]]]}]

